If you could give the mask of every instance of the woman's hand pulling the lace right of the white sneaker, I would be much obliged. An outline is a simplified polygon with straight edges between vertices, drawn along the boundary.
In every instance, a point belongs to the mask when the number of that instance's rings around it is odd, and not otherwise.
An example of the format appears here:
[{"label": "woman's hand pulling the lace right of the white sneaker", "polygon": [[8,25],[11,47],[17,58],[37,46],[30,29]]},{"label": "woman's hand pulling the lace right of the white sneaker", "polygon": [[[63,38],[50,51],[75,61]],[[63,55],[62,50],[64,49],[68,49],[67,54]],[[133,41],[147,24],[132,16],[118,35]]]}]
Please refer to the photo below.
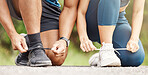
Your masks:
[{"label": "woman's hand pulling the lace right of the white sneaker", "polygon": [[127,50],[131,51],[131,52],[137,52],[137,50],[139,49],[139,45],[138,45],[138,41],[139,40],[133,40],[130,39],[127,43]]}]

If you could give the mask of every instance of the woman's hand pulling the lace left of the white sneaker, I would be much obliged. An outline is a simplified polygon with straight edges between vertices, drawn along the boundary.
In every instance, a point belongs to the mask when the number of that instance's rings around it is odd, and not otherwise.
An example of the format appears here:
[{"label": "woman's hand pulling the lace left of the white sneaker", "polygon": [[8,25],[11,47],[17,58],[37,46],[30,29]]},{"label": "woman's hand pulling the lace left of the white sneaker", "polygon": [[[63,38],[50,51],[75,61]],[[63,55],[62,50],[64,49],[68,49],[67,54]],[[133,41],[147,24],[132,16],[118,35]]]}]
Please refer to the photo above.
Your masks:
[{"label": "woman's hand pulling the lace left of the white sneaker", "polygon": [[82,49],[83,52],[89,52],[97,49],[93,45],[92,41],[90,41],[89,39],[82,39],[80,41],[81,41],[80,48]]}]

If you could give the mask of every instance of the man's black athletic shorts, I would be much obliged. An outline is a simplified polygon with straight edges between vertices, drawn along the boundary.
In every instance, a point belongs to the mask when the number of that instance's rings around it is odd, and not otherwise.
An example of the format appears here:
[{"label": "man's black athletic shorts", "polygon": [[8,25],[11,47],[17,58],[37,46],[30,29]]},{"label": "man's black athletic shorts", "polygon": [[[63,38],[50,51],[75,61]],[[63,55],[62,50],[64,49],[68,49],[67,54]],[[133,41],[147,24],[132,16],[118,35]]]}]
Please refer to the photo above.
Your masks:
[{"label": "man's black athletic shorts", "polygon": [[[11,16],[18,20],[22,20],[22,17],[16,13],[12,0],[7,0],[7,4]],[[59,7],[54,6],[45,0],[42,0],[41,32],[52,29],[59,29],[60,13],[61,10]]]}]

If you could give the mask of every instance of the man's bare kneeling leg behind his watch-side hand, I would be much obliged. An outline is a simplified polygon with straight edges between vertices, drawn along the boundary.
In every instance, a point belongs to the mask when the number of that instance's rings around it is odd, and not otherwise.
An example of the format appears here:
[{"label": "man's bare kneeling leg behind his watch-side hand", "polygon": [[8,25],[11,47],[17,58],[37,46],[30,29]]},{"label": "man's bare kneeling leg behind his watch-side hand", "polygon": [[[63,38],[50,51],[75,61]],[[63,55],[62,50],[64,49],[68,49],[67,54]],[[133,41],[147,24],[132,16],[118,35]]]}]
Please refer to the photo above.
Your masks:
[{"label": "man's bare kneeling leg behind his watch-side hand", "polygon": [[[41,40],[43,46],[45,48],[51,48],[53,44],[59,39],[59,31],[58,30],[49,30],[41,33]],[[64,63],[65,58],[67,56],[68,48],[64,53],[64,56],[56,56],[52,51],[46,50],[47,56],[51,59],[52,64],[56,66],[60,66]]]}]

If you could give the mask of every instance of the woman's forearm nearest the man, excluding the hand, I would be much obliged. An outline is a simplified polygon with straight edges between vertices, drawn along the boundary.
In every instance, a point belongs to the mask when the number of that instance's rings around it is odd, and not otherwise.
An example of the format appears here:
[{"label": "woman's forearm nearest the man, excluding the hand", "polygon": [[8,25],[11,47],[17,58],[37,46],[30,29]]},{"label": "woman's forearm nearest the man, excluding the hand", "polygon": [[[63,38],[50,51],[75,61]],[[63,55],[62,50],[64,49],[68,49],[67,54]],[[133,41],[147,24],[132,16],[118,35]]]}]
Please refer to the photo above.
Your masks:
[{"label": "woman's forearm nearest the man, excluding the hand", "polygon": [[88,40],[87,26],[86,26],[86,12],[88,9],[90,0],[80,0],[77,16],[77,31],[80,41]]}]

